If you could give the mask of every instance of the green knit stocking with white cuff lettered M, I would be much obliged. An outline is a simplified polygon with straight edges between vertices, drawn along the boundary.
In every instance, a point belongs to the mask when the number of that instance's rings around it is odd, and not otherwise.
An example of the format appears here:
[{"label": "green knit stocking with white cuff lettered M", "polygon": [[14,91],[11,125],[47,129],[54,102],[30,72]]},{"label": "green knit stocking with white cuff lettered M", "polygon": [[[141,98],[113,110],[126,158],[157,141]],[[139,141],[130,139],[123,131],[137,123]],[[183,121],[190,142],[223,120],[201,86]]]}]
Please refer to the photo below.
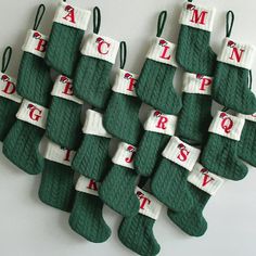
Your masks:
[{"label": "green knit stocking with white cuff lettered M", "polygon": [[183,4],[180,15],[177,62],[187,72],[213,76],[217,55],[209,47],[209,40],[216,10],[191,2]]}]

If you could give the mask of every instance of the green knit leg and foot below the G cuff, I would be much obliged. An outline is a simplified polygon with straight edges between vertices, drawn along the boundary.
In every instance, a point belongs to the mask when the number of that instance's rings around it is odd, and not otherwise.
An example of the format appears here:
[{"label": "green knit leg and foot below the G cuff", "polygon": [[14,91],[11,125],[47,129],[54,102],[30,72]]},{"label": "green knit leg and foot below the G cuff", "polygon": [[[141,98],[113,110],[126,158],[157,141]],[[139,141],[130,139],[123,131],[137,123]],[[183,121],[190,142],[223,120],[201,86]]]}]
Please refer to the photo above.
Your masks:
[{"label": "green knit leg and foot below the G cuff", "polygon": [[38,146],[43,133],[43,129],[17,119],[3,141],[3,154],[29,175],[41,172],[44,158]]}]

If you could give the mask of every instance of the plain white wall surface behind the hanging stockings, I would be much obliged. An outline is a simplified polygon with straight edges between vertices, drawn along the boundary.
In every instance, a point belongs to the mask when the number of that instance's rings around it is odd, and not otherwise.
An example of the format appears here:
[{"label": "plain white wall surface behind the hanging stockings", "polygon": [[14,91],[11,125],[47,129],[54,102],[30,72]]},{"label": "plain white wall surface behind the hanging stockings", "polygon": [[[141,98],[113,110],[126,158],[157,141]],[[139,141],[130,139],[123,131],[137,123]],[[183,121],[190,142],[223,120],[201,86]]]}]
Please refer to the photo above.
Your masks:
[{"label": "plain white wall surface behind the hanging stockings", "polygon": [[[16,76],[21,60],[21,47],[26,30],[33,27],[37,5],[35,0],[1,0],[0,54],[11,44],[14,55],[9,73]],[[68,2],[68,1],[67,1]],[[126,69],[139,73],[150,39],[156,34],[156,20],[162,10],[169,16],[164,37],[177,41],[178,17],[181,0],[77,0],[74,5],[102,11],[101,34],[128,43]],[[212,46],[219,51],[225,37],[225,15],[231,9],[235,13],[233,38],[256,44],[255,0],[199,0],[197,3],[217,8]],[[54,7],[57,1],[44,0],[48,10],[40,30],[49,34]],[[91,30],[91,26],[90,26]],[[255,62],[256,65],[256,62]],[[256,72],[256,68],[254,68]],[[179,76],[177,87],[180,86]],[[256,89],[255,89],[256,90]],[[208,231],[200,239],[182,233],[163,210],[154,226],[155,236],[163,256],[254,256],[256,255],[256,170],[243,181],[227,182],[212,199],[205,209]],[[103,244],[92,244],[74,233],[67,223],[68,214],[40,203],[37,192],[40,176],[31,177],[10,164],[0,154],[0,255],[2,256],[76,256],[133,255],[117,239],[120,216],[107,207],[104,216],[113,230],[111,239]]]}]

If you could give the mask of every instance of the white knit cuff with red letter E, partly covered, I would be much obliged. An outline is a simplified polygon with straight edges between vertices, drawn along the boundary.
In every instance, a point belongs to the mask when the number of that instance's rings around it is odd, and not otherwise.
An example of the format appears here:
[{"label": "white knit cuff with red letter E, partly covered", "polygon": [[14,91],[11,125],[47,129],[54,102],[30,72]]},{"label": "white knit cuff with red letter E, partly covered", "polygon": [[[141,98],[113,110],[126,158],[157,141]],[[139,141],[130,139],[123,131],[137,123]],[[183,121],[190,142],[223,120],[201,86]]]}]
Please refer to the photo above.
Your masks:
[{"label": "white knit cuff with red letter E, partly covered", "polygon": [[54,82],[51,95],[59,97],[68,101],[73,101],[77,104],[82,104],[82,100],[74,95],[73,80],[66,76],[59,76]]}]

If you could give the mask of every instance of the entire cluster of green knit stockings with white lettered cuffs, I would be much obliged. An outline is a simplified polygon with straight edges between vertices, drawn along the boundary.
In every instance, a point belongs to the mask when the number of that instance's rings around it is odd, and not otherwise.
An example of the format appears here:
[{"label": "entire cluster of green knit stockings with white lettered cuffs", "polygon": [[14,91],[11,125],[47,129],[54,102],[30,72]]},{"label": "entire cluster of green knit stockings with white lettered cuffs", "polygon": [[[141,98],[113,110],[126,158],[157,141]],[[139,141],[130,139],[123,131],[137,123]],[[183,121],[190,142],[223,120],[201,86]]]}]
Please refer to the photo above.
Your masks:
[{"label": "entire cluster of green knit stockings with white lettered cuffs", "polygon": [[[3,154],[27,174],[41,172],[40,200],[71,213],[71,228],[88,241],[111,236],[104,204],[124,217],[118,238],[139,255],[158,254],[153,226],[164,205],[181,230],[203,235],[212,195],[226,179],[247,175],[242,159],[256,166],[256,98],[249,90],[255,49],[230,38],[233,13],[227,13],[217,55],[209,47],[215,9],[185,2],[177,44],[162,38],[163,11],[136,75],[125,69],[126,42],[99,35],[99,8],[86,40],[90,11],[61,2],[50,37],[38,30],[44,11],[41,4],[27,33],[17,81],[5,74],[12,49],[3,53]],[[120,68],[111,86],[118,51]],[[179,67],[182,95],[174,87]],[[214,117],[213,100],[225,106]],[[90,108],[84,120],[85,103]],[[143,124],[142,103],[151,107]]]}]

